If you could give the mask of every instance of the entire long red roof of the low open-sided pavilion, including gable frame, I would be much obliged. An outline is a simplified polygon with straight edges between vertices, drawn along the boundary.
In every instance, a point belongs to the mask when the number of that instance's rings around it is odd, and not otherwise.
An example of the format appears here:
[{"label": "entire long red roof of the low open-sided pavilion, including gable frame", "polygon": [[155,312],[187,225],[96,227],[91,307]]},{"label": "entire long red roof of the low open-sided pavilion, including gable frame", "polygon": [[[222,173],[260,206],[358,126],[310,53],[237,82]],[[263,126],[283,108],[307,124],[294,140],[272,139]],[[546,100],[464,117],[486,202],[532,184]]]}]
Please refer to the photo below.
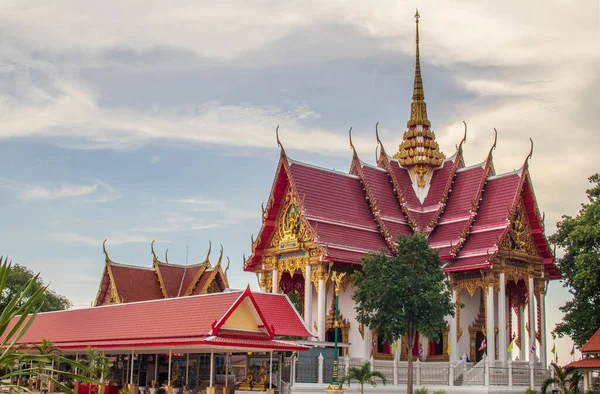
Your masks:
[{"label": "entire long red roof of the low open-sided pavilion, including gable frame", "polygon": [[[221,326],[246,302],[257,330]],[[298,348],[275,337],[311,336],[285,295],[231,291],[39,314],[21,344],[51,339],[63,349],[223,346]],[[221,341],[221,338],[228,338]],[[285,343],[285,345],[284,345]]]}]

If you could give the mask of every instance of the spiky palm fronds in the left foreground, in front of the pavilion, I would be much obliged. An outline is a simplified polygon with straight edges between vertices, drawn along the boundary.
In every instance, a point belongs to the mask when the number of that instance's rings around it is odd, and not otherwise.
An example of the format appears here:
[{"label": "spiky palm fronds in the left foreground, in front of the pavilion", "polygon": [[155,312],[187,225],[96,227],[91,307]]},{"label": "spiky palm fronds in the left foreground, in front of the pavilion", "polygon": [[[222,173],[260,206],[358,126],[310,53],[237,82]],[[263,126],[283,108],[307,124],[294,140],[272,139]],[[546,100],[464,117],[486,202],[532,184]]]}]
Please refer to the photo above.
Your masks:
[{"label": "spiky palm fronds in the left foreground, in front of the pavilion", "polygon": [[[0,294],[7,294],[6,284],[8,283],[11,272],[11,265],[6,258],[0,257]],[[12,384],[12,379],[19,375],[26,375],[32,372],[58,372],[48,365],[52,360],[67,363],[72,368],[80,368],[85,370],[85,367],[75,361],[56,354],[52,349],[52,342],[45,341],[37,345],[36,349],[46,349],[51,351],[50,354],[33,354],[25,352],[24,348],[18,345],[19,340],[27,333],[27,330],[33,323],[36,315],[42,309],[41,299],[47,289],[38,287],[39,276],[35,275],[30,280],[26,281],[20,288],[12,291],[12,298],[8,299],[4,309],[0,313],[0,371],[9,371],[0,373],[0,390],[7,389],[13,392],[22,392],[24,389]],[[14,368],[15,365],[19,367]],[[22,368],[23,365],[36,364],[34,368]],[[60,372],[68,379],[77,379],[96,383],[94,380],[85,376],[72,374],[69,372]],[[72,394],[73,390],[65,387],[63,384],[55,380],[52,375],[50,380],[53,381],[65,393]],[[2,390],[4,391],[4,390]]]}]

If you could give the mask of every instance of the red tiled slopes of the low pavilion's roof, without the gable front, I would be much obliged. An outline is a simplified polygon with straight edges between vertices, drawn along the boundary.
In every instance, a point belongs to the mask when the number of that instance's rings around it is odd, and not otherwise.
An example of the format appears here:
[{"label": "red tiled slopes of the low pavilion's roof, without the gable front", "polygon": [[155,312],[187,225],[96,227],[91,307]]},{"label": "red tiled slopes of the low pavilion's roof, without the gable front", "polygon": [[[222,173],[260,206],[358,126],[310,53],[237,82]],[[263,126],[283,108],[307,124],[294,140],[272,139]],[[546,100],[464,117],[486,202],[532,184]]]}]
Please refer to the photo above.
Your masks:
[{"label": "red tiled slopes of the low pavilion's roof, without the gable front", "polygon": [[[81,343],[119,345],[119,341],[141,343],[197,341],[211,335],[212,325],[227,314],[246,292],[226,292],[202,296],[115,304],[39,314],[21,338],[21,344],[40,343],[51,338],[58,347]],[[287,297],[253,294],[267,324],[277,336],[308,337],[310,333],[293,310]],[[167,323],[165,323],[167,322]],[[110,327],[110,329],[106,329]],[[68,345],[71,344],[71,345]]]}]

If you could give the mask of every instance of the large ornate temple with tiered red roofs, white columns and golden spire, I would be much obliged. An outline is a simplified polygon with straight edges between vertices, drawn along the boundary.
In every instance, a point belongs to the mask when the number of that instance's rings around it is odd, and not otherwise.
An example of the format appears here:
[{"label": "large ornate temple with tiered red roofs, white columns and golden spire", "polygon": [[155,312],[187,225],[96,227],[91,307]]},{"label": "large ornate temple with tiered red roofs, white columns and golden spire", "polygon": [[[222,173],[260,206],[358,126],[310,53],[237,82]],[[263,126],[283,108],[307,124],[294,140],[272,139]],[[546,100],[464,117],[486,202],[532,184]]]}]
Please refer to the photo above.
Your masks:
[{"label": "large ornate temple with tiered red roofs, white columns and golden spire", "polygon": [[[465,163],[466,125],[452,155],[440,150],[425,104],[418,13],[415,18],[414,88],[398,150],[388,153],[376,128],[379,153],[368,164],[350,136],[352,161],[343,173],[293,160],[278,135],[279,163],[244,269],[257,274],[265,292],[298,293],[305,322],[318,341],[330,342],[332,272],[360,270],[366,254],[392,256],[398,236],[422,233],[444,263],[456,316],[447,318],[437,343],[419,336],[413,356],[454,361],[466,355],[475,362],[486,343],[488,359],[505,362],[514,340],[520,360],[545,363],[545,296],[559,274],[529,173],[533,142],[520,168],[502,174],[493,162],[497,133],[481,163]],[[349,356],[406,359],[406,343],[394,354],[376,327],[357,323],[350,276],[342,282],[339,322]]]}]

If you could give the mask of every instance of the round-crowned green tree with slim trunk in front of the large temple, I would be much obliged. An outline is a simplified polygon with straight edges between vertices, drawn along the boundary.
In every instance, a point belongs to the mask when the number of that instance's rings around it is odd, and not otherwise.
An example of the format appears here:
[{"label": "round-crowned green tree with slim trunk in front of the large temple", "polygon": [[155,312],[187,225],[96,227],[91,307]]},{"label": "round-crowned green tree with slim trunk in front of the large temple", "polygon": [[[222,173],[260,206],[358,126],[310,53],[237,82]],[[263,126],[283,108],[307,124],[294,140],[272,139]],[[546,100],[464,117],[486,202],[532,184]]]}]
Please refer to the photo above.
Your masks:
[{"label": "round-crowned green tree with slim trunk in front of the large temple", "polygon": [[[362,273],[353,275],[359,323],[377,330],[377,335],[393,343],[406,335],[408,354],[417,333],[437,341],[446,327],[446,316],[454,316],[450,286],[442,262],[429,247],[425,236],[400,236],[398,253],[368,255]],[[412,357],[408,358],[407,392],[413,392]]]}]

